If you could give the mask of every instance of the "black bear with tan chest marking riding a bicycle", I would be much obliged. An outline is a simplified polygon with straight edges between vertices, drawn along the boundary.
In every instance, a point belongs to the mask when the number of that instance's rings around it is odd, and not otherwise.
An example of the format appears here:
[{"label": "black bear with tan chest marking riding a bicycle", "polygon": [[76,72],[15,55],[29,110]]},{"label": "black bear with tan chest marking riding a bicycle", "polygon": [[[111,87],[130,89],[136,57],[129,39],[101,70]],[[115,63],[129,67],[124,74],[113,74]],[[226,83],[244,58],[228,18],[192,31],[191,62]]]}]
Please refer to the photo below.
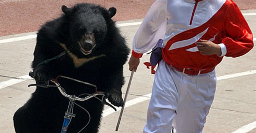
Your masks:
[{"label": "black bear with tan chest marking riding a bicycle", "polygon": [[[36,82],[58,75],[78,79],[96,85],[97,91],[104,92],[113,105],[123,106],[123,65],[130,49],[112,20],[116,8],[79,3],[72,8],[63,5],[62,11],[62,16],[46,22],[37,33],[32,62]],[[66,54],[60,55],[63,51]],[[55,58],[58,55],[60,58]],[[95,91],[91,86],[68,79],[58,82],[71,95]],[[16,133],[60,132],[68,102],[57,87],[37,86],[27,103],[14,114]],[[81,129],[81,133],[97,133],[104,104],[97,98],[76,103],[86,109],[90,117],[75,105],[76,116],[67,133],[78,133]]]}]

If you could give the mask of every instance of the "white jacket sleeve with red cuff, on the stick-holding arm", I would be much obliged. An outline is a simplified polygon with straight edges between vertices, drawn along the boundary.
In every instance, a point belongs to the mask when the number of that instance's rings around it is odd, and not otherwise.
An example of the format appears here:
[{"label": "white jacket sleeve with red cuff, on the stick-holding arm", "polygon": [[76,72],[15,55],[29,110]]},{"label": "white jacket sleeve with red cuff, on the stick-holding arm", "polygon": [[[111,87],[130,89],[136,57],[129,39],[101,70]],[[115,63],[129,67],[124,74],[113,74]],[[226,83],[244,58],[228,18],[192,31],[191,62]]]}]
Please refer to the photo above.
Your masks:
[{"label": "white jacket sleeve with red cuff, on the stick-holding arm", "polygon": [[164,38],[167,26],[166,17],[167,0],[156,0],[153,3],[142,24],[133,38],[134,57],[141,57],[150,51],[161,38]]}]

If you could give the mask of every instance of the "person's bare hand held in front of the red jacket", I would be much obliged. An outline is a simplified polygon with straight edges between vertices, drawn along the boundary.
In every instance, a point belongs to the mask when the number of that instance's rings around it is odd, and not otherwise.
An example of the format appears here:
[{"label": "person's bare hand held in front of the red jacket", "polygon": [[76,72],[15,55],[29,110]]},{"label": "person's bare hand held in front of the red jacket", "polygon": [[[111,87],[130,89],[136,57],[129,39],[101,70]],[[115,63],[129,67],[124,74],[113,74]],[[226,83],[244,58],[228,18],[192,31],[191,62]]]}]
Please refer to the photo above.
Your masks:
[{"label": "person's bare hand held in front of the red jacket", "polygon": [[211,41],[200,40],[196,43],[196,47],[198,48],[199,52],[203,55],[221,55],[220,46]]}]

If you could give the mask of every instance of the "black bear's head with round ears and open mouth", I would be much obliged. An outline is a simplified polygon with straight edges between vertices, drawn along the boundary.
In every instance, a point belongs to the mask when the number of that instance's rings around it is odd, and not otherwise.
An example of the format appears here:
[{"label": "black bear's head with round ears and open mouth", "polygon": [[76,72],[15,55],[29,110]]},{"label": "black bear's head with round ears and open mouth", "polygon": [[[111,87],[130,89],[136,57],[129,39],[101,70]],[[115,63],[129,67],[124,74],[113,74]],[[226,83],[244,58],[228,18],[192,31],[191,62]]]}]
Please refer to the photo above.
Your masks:
[{"label": "black bear's head with round ears and open mouth", "polygon": [[71,40],[75,43],[73,49],[83,55],[89,55],[101,47],[113,23],[111,18],[116,14],[114,7],[107,10],[89,3],[78,4],[73,8],[63,5],[62,11],[68,21]]}]

